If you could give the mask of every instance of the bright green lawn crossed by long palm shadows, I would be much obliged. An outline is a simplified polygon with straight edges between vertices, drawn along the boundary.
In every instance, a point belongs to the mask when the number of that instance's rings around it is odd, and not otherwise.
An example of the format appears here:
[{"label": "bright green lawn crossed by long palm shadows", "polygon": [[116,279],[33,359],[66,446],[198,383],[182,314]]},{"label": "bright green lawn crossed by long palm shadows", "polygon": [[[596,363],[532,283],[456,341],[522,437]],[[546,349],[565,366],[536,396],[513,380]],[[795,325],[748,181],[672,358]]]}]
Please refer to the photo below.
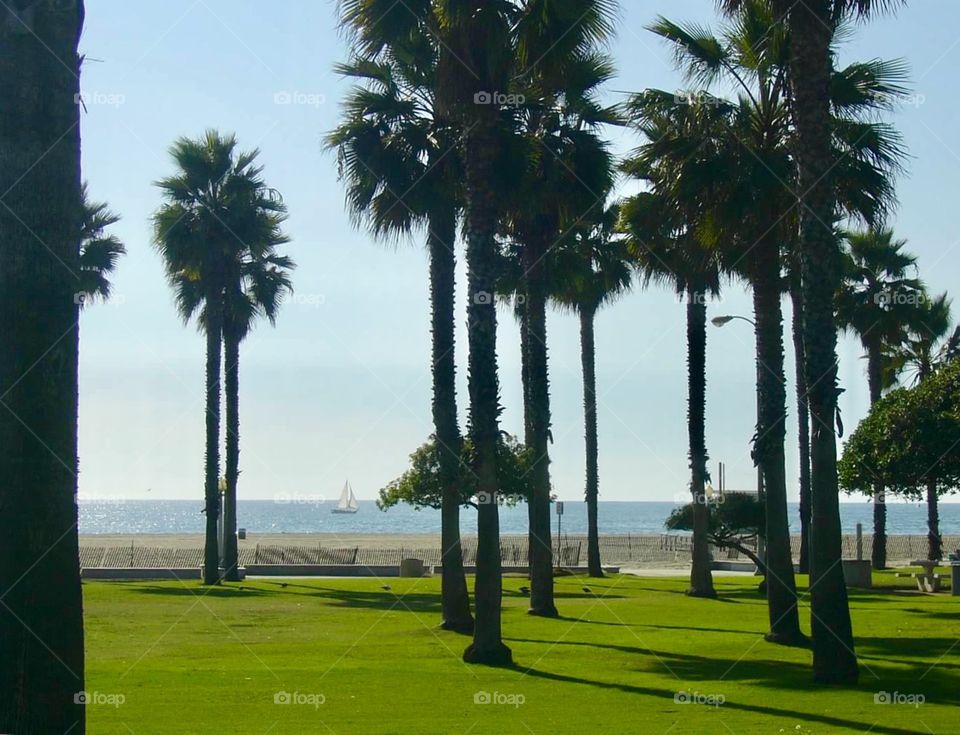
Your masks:
[{"label": "bright green lawn crossed by long palm shadows", "polygon": [[437,579],[89,582],[89,732],[957,733],[960,600],[882,578],[852,595],[856,690],[814,688],[808,651],[763,641],[751,579],[718,580],[709,601],[682,580],[562,578],[559,620],[526,615],[526,580],[507,579],[510,670],[461,662]]}]

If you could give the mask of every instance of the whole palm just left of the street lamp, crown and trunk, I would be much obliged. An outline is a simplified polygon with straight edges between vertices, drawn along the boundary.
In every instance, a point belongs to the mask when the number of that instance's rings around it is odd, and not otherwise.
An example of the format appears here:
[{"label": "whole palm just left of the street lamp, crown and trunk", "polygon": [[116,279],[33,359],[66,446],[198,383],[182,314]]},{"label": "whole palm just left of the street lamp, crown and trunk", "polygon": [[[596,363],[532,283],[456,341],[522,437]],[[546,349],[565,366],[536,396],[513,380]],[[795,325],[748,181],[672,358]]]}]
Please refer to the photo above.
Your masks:
[{"label": "whole palm just left of the street lamp, crown and trunk", "polygon": [[[695,110],[687,112],[696,113]],[[649,130],[648,132],[653,132]],[[666,132],[666,131],[664,131]],[[653,163],[651,161],[650,163]],[[672,200],[670,178],[657,167],[648,167],[643,156],[628,162],[642,174],[653,191],[638,194],[623,206],[627,247],[646,283],[666,284],[684,298],[687,309],[687,433],[689,436],[690,492],[693,515],[693,563],[690,589],[694,597],[716,597],[710,571],[709,508],[707,507],[706,402],[707,402],[707,300],[720,293],[717,254],[704,245],[690,202]]]}]

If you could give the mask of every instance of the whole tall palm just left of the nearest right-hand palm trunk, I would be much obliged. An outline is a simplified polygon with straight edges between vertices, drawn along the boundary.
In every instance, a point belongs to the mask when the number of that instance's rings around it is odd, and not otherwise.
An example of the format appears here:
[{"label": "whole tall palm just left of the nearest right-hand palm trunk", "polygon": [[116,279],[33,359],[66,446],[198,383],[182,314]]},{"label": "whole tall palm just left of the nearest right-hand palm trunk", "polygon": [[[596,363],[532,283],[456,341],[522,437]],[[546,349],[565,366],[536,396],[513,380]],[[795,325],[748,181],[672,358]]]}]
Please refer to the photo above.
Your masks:
[{"label": "whole tall palm just left of the nearest right-hand palm trunk", "polygon": [[[796,588],[787,521],[784,458],[782,251],[792,241],[796,206],[793,129],[786,67],[790,34],[763,0],[739,3],[719,38],[698,26],[659,19],[653,31],[670,41],[688,79],[709,87],[726,81],[738,89],[729,105],[729,145],[714,162],[727,182],[715,228],[730,235],[737,253],[731,267],[753,286],[758,360],[758,426],[754,457],[766,490],[768,544],[768,639],[804,643],[796,609]],[[832,144],[848,162],[834,176],[838,201],[857,216],[875,218],[886,205],[895,167],[897,138],[863,116],[878,105],[869,92],[896,88],[902,65],[871,62],[834,76]],[[852,77],[852,82],[851,82]],[[853,87],[853,89],[851,89]],[[868,92],[869,90],[869,92]],[[718,104],[714,100],[714,104]],[[723,105],[721,105],[723,107]],[[854,134],[856,131],[856,134]],[[723,180],[723,179],[721,179]]]}]

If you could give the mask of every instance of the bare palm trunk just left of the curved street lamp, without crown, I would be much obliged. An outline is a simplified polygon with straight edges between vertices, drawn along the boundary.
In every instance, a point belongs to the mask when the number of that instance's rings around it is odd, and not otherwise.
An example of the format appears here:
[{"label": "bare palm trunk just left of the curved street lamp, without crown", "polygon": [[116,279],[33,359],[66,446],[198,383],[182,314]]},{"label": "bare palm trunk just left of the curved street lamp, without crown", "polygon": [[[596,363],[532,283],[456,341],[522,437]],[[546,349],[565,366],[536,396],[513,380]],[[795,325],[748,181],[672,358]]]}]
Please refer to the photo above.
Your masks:
[{"label": "bare palm trunk just left of the curved street lamp, without crown", "polygon": [[693,597],[716,597],[710,572],[710,519],[704,486],[707,481],[707,302],[706,294],[691,290],[687,299],[687,432],[690,437],[690,492],[693,495]]}]

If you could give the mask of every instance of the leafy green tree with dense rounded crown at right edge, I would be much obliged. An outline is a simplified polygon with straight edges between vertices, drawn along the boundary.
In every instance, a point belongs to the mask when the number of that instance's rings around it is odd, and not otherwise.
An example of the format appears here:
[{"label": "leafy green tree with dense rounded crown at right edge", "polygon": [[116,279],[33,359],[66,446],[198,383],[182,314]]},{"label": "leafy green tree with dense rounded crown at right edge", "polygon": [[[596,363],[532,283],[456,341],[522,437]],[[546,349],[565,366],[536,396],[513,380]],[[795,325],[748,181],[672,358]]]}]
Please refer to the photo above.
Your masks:
[{"label": "leafy green tree with dense rounded crown at right edge", "polygon": [[938,499],[960,487],[960,364],[900,388],[875,403],[850,435],[840,459],[846,492],[889,492],[923,499],[928,508],[928,558],[940,559]]}]

